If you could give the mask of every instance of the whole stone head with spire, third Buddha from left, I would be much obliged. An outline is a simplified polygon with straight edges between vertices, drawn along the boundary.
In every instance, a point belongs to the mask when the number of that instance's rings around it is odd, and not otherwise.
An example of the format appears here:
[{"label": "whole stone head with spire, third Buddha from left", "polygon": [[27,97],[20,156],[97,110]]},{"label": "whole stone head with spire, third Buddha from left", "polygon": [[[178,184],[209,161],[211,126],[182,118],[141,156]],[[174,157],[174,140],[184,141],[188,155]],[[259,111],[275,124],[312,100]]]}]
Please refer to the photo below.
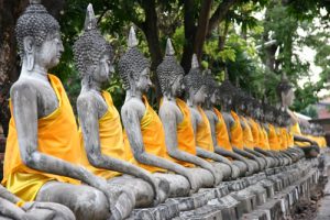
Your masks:
[{"label": "whole stone head with spire, third Buddha from left", "polygon": [[150,79],[150,62],[138,50],[138,40],[133,26],[130,30],[128,51],[120,58],[118,67],[123,88],[132,96],[139,91],[144,94],[152,86]]}]

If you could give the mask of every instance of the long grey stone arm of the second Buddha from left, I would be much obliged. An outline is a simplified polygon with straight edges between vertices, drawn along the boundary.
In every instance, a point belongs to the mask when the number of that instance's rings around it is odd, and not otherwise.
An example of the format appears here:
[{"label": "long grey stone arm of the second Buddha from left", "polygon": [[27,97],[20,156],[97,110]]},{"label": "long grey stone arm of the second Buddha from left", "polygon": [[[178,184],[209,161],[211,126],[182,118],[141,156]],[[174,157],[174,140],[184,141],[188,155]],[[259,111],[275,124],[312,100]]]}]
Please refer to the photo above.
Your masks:
[{"label": "long grey stone arm of the second Buddha from left", "polygon": [[78,118],[84,134],[84,147],[88,162],[95,167],[129,174],[150,183],[154,189],[155,197],[157,197],[158,186],[155,178],[147,170],[129,162],[102,154],[99,139],[98,112],[94,100],[92,98],[88,100],[81,97],[77,100]]}]

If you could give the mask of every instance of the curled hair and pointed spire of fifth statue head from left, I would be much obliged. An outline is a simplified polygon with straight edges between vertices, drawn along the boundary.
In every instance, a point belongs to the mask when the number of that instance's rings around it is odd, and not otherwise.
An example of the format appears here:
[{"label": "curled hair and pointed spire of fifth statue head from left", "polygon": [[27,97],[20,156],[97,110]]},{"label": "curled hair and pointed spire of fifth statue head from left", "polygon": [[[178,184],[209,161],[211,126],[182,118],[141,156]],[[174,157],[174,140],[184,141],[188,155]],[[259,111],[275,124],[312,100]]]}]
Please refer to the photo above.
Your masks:
[{"label": "curled hair and pointed spire of fifth statue head from left", "polygon": [[189,94],[190,88],[193,88],[193,90],[197,92],[205,85],[205,77],[202,77],[202,74],[200,72],[196,54],[193,55],[191,69],[185,76],[184,82],[187,94]]}]

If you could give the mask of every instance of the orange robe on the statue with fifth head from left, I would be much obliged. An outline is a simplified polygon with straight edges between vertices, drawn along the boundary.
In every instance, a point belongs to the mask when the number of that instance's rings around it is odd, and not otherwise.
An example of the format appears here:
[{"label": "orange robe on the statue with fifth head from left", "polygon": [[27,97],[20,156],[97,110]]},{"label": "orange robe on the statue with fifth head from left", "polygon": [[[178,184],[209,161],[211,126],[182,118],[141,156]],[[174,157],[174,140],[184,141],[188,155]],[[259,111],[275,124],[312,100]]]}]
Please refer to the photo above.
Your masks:
[{"label": "orange robe on the statue with fifth head from left", "polygon": [[215,152],[210,122],[200,107],[198,107],[198,111],[201,116],[201,122],[197,125],[196,144],[206,151]]}]

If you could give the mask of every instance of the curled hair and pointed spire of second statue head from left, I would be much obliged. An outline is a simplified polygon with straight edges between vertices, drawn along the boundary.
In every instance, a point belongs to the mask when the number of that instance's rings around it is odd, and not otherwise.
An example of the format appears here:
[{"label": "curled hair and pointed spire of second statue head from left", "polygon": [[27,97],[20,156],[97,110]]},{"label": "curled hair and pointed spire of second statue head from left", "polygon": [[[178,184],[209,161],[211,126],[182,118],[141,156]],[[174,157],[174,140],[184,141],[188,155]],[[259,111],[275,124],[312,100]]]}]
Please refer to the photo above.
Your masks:
[{"label": "curled hair and pointed spire of second statue head from left", "polygon": [[80,76],[91,75],[97,65],[99,65],[99,61],[103,54],[108,54],[110,59],[113,57],[110,44],[97,29],[92,6],[88,4],[84,33],[74,44],[75,63]]}]

